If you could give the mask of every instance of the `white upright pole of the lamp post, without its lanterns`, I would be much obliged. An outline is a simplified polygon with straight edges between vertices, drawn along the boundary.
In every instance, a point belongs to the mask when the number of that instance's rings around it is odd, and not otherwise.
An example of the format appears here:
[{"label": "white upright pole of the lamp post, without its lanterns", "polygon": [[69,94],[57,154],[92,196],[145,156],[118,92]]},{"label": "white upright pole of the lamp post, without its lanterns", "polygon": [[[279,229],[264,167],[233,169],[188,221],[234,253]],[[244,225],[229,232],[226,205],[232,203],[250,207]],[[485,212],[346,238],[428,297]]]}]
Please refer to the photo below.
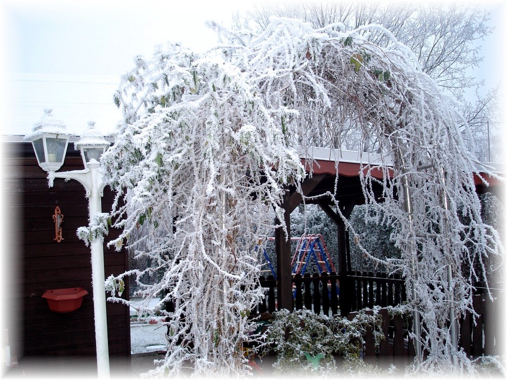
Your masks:
[{"label": "white upright pole of the lamp post, without its lanterns", "polygon": [[[100,178],[98,162],[88,163],[90,169],[91,184],[89,198],[90,221],[102,212],[100,196]],[[97,374],[98,378],[109,378],[109,347],[107,339],[107,311],[104,289],[104,242],[103,237],[92,238],[91,241],[91,264],[93,285],[93,316],[95,319],[95,344],[97,350]]]}]

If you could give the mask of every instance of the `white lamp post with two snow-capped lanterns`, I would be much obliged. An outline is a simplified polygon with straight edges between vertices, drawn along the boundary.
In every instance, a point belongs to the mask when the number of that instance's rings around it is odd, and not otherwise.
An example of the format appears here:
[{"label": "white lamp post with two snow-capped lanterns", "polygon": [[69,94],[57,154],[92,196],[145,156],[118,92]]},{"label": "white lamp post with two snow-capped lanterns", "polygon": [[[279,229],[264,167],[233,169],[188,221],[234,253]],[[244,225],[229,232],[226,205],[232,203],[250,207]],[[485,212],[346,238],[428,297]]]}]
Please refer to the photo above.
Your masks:
[{"label": "white lamp post with two snow-capped lanterns", "polygon": [[[51,109],[45,109],[43,119],[35,124],[33,133],[26,136],[25,140],[32,142],[39,166],[48,172],[49,187],[53,186],[55,178],[63,178],[65,180],[75,179],[84,186],[86,197],[88,198],[89,222],[92,223],[102,212],[101,198],[105,183],[102,180],[99,160],[110,143],[97,132],[94,123],[88,124],[90,128],[82,134],[80,141],[75,143],[75,148],[81,150],[81,157],[85,165],[85,169],[83,170],[56,172],[61,168],[65,160],[70,136],[67,134],[63,123],[53,119]],[[90,246],[97,374],[98,378],[108,378],[110,376],[110,368],[104,289],[103,236],[92,236]]]}]

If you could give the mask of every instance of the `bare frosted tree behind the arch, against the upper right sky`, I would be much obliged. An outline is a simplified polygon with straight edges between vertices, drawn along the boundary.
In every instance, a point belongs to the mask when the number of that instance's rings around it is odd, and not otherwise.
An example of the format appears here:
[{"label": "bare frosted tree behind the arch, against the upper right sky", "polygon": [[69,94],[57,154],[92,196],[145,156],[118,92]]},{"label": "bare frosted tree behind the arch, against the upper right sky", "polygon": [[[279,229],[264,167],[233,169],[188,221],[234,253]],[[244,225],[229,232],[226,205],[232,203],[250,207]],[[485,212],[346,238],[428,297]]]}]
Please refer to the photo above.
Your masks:
[{"label": "bare frosted tree behind the arch, against the upper right sky", "polygon": [[[412,50],[423,72],[461,102],[460,113],[472,132],[463,136],[468,149],[481,161],[501,159],[501,150],[492,146],[501,132],[498,88],[480,95],[483,83],[473,74],[484,60],[481,41],[493,30],[485,8],[436,3],[280,2],[256,6],[248,19],[255,28],[264,30],[271,16],[297,18],[314,28],[336,24],[340,30],[353,30],[368,24],[382,25]],[[380,46],[386,43],[381,32],[369,30],[368,38]],[[465,98],[472,93],[474,101]],[[352,141],[357,137],[354,131],[343,130],[337,143],[356,149]],[[361,148],[374,148],[375,141],[370,142]]]}]

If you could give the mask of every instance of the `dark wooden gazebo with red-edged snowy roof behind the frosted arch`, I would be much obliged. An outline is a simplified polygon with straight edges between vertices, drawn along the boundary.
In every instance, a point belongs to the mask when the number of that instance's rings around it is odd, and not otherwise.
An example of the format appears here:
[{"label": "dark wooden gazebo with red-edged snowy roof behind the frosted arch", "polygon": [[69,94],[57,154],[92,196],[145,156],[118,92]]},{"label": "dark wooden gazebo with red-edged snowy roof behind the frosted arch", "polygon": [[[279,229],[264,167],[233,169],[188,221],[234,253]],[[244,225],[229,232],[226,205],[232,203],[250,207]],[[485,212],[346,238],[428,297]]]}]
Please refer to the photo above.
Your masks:
[{"label": "dark wooden gazebo with red-edged snowy roof behind the frosted arch", "polygon": [[[302,159],[308,175],[301,187],[304,196],[308,197],[305,202],[317,204],[329,216],[330,220],[336,224],[339,256],[337,275],[341,287],[344,289],[340,292],[339,306],[340,314],[347,316],[351,311],[351,302],[353,301],[351,299],[352,293],[347,289],[348,285],[350,286],[351,284],[349,237],[343,219],[331,207],[332,204],[335,204],[335,201],[332,202],[330,194],[336,194],[335,198],[338,201],[341,214],[348,218],[355,205],[365,203],[363,187],[360,181],[361,171],[370,170],[372,177],[381,180],[383,176],[381,166],[388,168],[392,165],[392,159],[373,153],[317,147],[311,148],[308,154],[313,158],[313,162],[310,166],[310,164],[307,164]],[[503,202],[503,187],[501,182],[496,177],[486,174],[488,172],[502,175],[504,172],[503,167],[500,164],[478,163],[476,169],[474,172],[476,192],[478,194],[492,193]],[[387,169],[387,171],[390,173],[390,169]],[[371,191],[375,194],[377,202],[383,201],[382,190],[380,182],[372,182]],[[301,195],[294,188],[289,188],[283,203],[285,223],[289,234],[289,215],[302,202]],[[277,307],[278,309],[292,310],[294,297],[291,258],[293,253],[291,251],[291,241],[290,239],[286,239],[281,228],[275,232],[275,251],[277,265]]]}]

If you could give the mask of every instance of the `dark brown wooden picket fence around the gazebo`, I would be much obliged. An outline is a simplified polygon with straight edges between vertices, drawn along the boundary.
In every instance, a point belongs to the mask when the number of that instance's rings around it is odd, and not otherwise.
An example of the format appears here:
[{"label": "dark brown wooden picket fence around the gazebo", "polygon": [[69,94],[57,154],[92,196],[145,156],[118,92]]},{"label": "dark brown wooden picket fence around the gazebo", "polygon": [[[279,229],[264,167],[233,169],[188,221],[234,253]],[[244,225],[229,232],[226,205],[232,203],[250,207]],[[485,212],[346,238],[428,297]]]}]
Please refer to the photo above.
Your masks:
[{"label": "dark brown wooden picket fence around the gazebo", "polygon": [[[347,276],[347,289],[339,288],[339,276],[336,273],[322,275],[305,274],[293,278],[293,294],[295,310],[313,310],[316,314],[337,315],[339,313],[339,294],[347,292],[350,299],[353,318],[358,310],[371,309],[373,306],[395,306],[406,300],[406,287],[403,279],[396,276],[369,272],[351,272]],[[276,310],[276,280],[273,276],[261,277],[260,285],[266,289],[266,297],[255,308],[253,314],[274,312]],[[500,336],[500,318],[504,292],[502,289],[490,289],[493,301],[484,288],[478,288],[473,297],[473,309],[477,314],[466,312],[460,319],[459,346],[470,358],[482,355],[501,355],[503,337]],[[415,357],[413,342],[409,331],[412,329],[412,316],[389,316],[386,309],[381,309],[382,332],[385,339],[381,340],[378,349],[372,331],[365,336],[365,360],[377,361],[378,364],[394,363],[405,365]],[[424,323],[424,316],[421,318]]]}]

